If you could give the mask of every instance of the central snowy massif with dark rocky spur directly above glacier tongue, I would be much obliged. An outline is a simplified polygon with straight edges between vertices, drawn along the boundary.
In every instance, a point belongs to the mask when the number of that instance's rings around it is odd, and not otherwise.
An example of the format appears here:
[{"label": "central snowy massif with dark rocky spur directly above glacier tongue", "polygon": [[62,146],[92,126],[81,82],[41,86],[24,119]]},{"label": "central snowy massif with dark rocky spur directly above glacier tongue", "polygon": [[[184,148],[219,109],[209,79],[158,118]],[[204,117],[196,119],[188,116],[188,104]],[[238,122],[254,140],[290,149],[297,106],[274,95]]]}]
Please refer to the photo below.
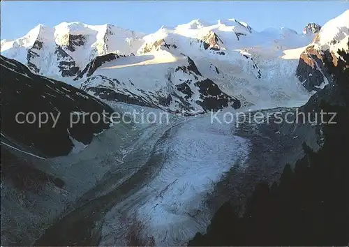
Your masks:
[{"label": "central snowy massif with dark rocky spur directly above glacier tongue", "polygon": [[312,38],[286,28],[257,32],[235,19],[193,20],[144,36],[137,56],[97,57],[75,85],[107,100],[187,114],[228,105],[278,106],[304,96],[294,74],[297,63],[282,59],[283,50]]}]

